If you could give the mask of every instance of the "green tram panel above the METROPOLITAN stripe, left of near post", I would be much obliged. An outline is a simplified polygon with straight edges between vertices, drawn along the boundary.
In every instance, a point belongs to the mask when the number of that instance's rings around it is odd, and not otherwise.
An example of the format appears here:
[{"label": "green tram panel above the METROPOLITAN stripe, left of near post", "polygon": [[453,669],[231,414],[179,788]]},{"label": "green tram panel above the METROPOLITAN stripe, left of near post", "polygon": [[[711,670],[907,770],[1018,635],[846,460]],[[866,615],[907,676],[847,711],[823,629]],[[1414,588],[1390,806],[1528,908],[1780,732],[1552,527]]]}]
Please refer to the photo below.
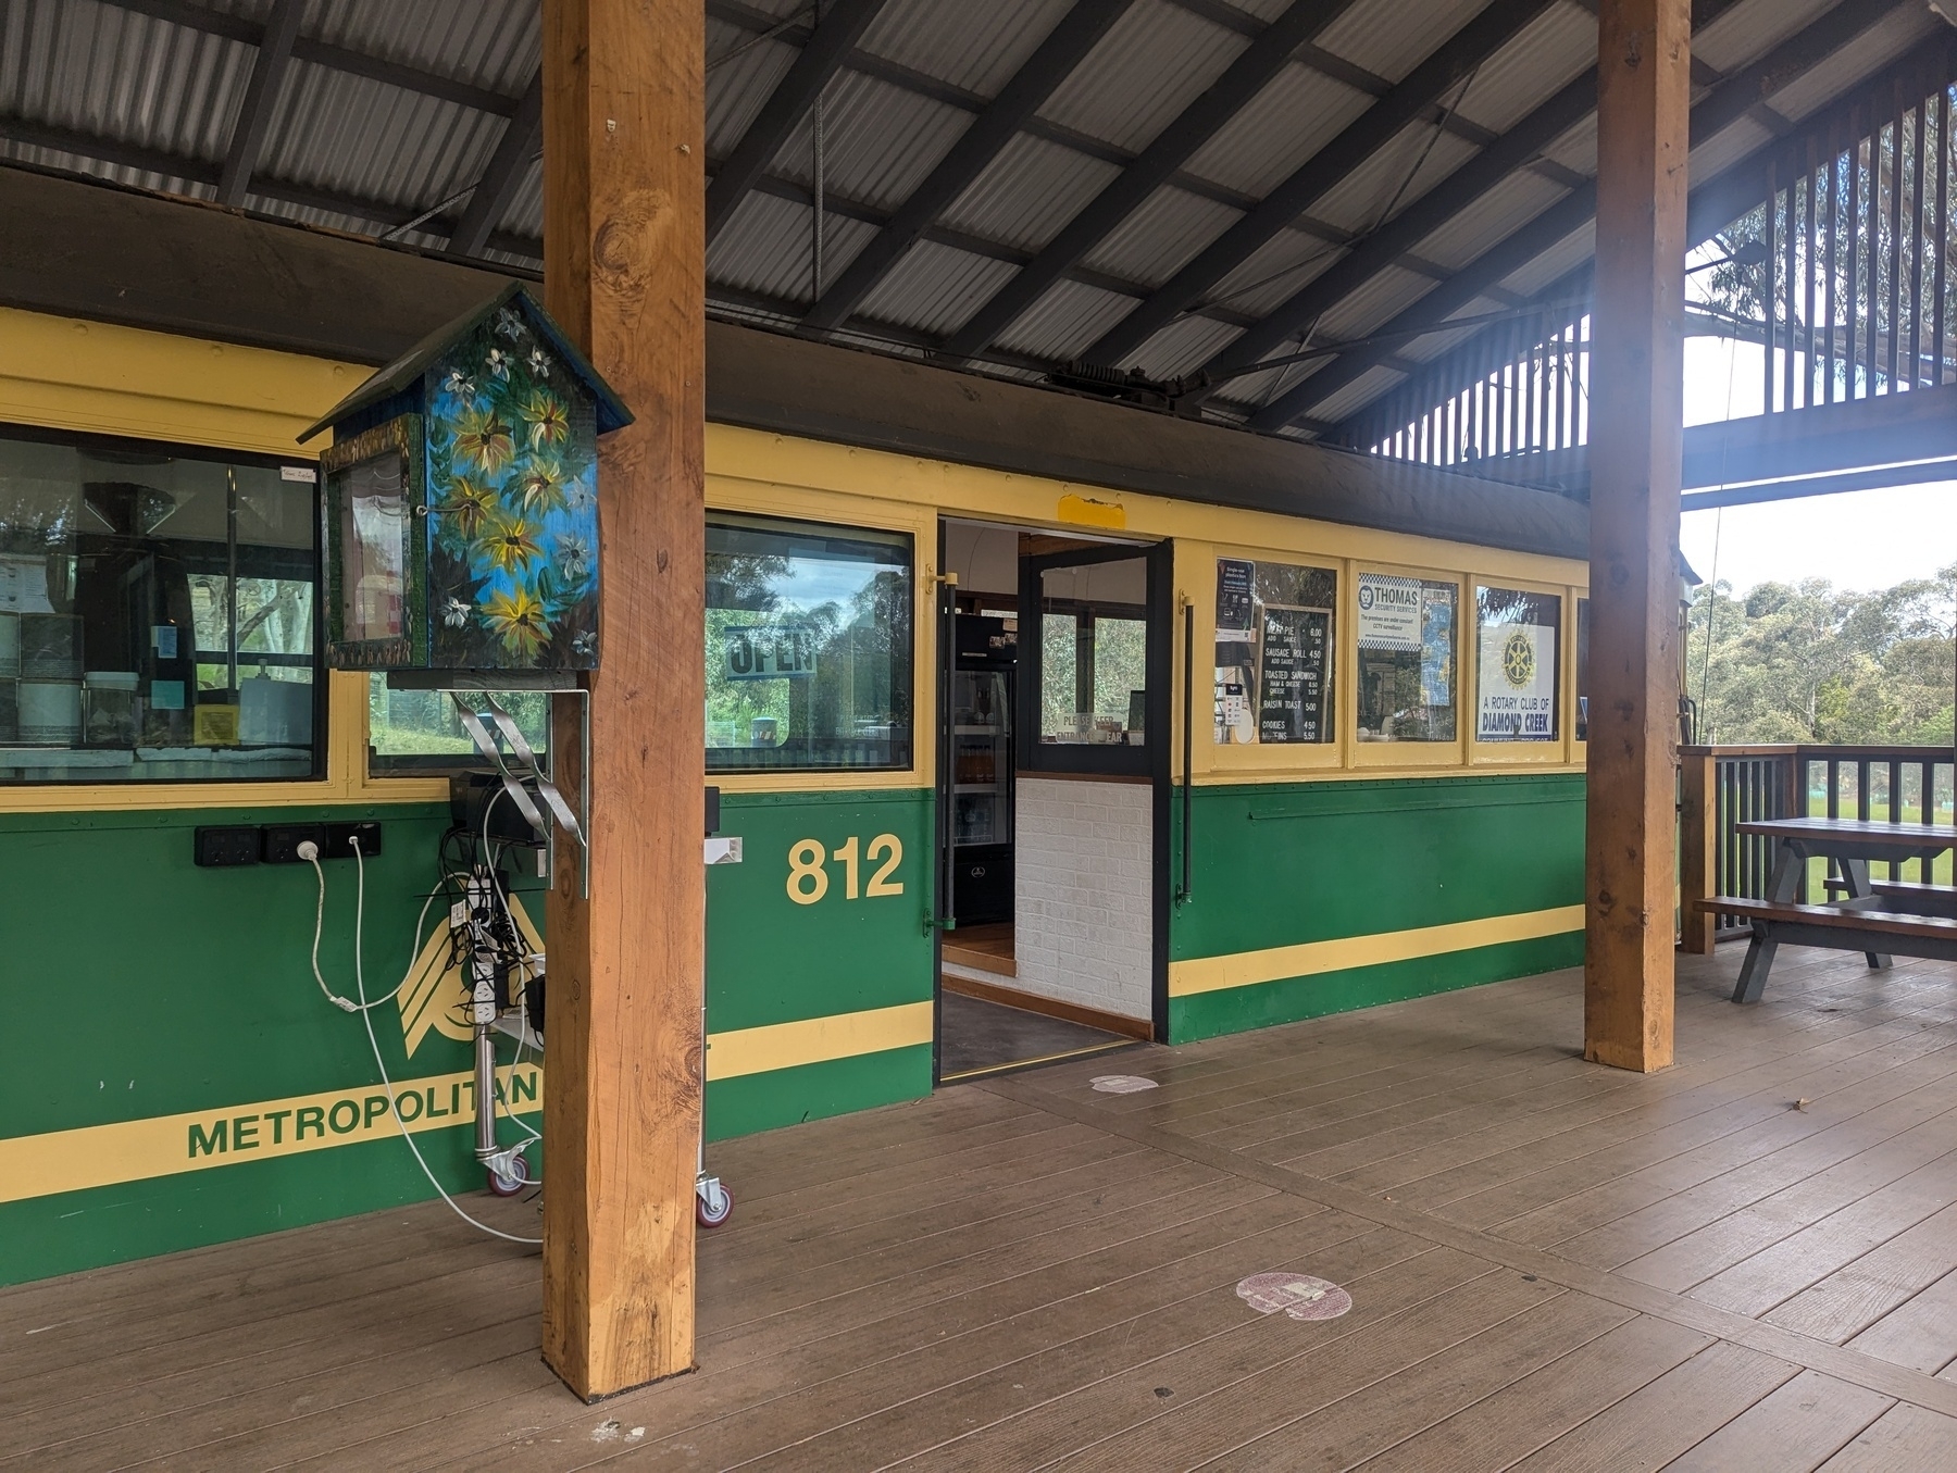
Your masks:
[{"label": "green tram panel above the METROPOLITAN stripe, left of near post", "polygon": [[[374,1082],[356,1017],[313,982],[311,865],[198,869],[200,824],[376,818],[366,861],[368,996],[389,992],[413,953],[434,884],[446,806],[272,808],[0,820],[0,894],[18,978],[10,1025],[22,1049],[8,1135],[174,1115]],[[354,992],[356,869],[325,865],[319,966]],[[374,1009],[389,1070],[470,1066],[464,1043],[431,1033],[405,1052],[399,1009]]]}]

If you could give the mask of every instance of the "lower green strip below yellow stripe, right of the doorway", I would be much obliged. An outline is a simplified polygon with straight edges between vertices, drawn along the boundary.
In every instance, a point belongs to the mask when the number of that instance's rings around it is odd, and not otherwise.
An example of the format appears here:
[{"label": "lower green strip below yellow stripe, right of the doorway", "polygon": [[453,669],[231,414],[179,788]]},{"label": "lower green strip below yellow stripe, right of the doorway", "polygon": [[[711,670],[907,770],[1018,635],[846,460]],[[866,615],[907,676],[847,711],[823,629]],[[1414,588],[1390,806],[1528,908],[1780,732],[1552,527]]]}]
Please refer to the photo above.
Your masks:
[{"label": "lower green strip below yellow stripe, right of the doorway", "polygon": [[1560,966],[1577,966],[1581,960],[1583,935],[1571,931],[1570,935],[1474,947],[1407,962],[1354,966],[1343,972],[1260,982],[1249,988],[1200,992],[1194,998],[1170,998],[1168,1029],[1176,1043],[1194,1043],[1196,1039],[1213,1039],[1219,1033],[1296,1023],[1305,1017],[1425,998],[1433,992],[1554,972]]}]

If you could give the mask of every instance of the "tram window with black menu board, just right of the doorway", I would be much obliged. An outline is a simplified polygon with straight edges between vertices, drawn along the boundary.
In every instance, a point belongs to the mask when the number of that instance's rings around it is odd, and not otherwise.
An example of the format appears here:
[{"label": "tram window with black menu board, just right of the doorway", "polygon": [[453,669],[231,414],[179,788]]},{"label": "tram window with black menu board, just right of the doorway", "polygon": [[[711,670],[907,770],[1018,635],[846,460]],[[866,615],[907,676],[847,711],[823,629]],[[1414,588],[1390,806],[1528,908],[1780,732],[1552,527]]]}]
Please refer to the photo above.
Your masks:
[{"label": "tram window with black menu board, just right of the doorway", "polygon": [[1217,745],[1337,739],[1337,569],[1217,558]]}]

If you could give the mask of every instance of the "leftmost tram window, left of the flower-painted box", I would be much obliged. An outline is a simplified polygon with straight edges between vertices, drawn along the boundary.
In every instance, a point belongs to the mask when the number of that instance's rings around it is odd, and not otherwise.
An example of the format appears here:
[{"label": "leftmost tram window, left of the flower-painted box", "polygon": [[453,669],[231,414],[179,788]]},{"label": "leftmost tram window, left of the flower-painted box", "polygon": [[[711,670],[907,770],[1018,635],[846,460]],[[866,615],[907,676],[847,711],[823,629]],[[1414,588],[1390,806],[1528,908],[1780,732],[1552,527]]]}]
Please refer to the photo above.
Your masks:
[{"label": "leftmost tram window, left of the flower-painted box", "polygon": [[311,466],[0,432],[0,782],[321,771]]}]

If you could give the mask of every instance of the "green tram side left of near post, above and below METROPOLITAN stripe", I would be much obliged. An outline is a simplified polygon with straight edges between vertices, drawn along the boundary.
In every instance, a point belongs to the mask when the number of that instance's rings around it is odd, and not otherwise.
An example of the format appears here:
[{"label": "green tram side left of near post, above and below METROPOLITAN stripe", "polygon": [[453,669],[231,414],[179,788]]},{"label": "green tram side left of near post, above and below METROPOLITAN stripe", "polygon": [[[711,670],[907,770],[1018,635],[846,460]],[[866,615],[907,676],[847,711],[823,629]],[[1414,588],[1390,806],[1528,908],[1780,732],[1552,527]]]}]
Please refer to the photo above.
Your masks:
[{"label": "green tram side left of near post, above and below METROPOLITAN stripe", "polygon": [[[360,1019],[329,1005],[313,982],[313,869],[192,865],[200,824],[352,818],[382,824],[382,853],[366,861],[364,966],[368,996],[384,996],[415,949],[446,804],[0,818],[0,894],[14,976],[23,982],[8,992],[8,1021],[23,1047],[0,1129],[39,1135],[376,1086]],[[319,964],[337,992],[352,996],[358,870],[333,861],[325,874]],[[374,1009],[374,1025],[393,1078],[470,1066],[468,1043],[432,1031],[409,1054],[391,1004]],[[479,1185],[468,1131],[432,1131],[417,1142],[452,1189]],[[542,1166],[540,1154],[532,1164]],[[0,1277],[225,1242],[429,1195],[407,1146],[376,1140],[27,1197],[0,1205],[0,1242],[16,1248]]]}]

